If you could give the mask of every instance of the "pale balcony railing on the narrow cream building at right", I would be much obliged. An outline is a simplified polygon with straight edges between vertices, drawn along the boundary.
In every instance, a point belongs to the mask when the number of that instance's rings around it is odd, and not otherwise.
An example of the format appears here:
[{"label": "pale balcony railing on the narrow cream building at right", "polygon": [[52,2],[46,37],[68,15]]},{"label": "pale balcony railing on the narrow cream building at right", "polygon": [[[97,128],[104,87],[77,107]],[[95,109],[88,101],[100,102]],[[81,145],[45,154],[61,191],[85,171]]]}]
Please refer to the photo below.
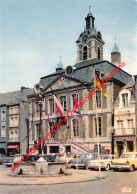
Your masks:
[{"label": "pale balcony railing on the narrow cream building at right", "polygon": [[115,135],[135,135],[135,128],[115,129]]}]

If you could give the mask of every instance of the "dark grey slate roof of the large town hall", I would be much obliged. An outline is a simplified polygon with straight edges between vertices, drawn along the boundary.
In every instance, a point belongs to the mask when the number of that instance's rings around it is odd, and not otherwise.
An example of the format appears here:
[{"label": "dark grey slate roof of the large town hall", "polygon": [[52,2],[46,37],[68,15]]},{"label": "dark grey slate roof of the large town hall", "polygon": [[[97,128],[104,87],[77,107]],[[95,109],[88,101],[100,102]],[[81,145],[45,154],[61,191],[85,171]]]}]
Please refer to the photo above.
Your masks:
[{"label": "dark grey slate roof of the large town hall", "polygon": [[[74,66],[75,71],[71,78],[77,79],[80,82],[84,83],[92,83],[94,79],[94,67],[102,70],[105,74],[104,77],[109,76],[110,72],[116,68],[115,65],[108,61],[99,61],[98,59],[92,59],[87,60],[81,63],[76,63]],[[48,76],[42,77],[40,79],[39,84],[42,85],[44,88],[48,87],[51,83],[53,83],[54,80],[58,78],[58,76],[65,74],[65,69],[55,72],[53,74],[50,74]],[[132,76],[128,74],[127,72],[120,70],[118,73],[116,73],[113,77],[115,80],[118,80],[119,82],[123,83],[123,85],[131,82]]]}]

